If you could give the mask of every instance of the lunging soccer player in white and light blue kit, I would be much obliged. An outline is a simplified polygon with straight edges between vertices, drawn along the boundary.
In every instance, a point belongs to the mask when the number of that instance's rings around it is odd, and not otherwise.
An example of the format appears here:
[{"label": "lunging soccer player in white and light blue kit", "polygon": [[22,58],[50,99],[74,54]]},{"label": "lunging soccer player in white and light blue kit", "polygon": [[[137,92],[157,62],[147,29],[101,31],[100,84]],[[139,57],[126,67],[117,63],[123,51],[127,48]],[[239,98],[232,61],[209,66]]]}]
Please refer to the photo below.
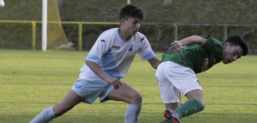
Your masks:
[{"label": "lunging soccer player in white and light blue kit", "polygon": [[81,102],[92,104],[97,97],[100,102],[128,103],[125,123],[137,123],[142,94],[121,78],[127,74],[136,53],[154,69],[160,64],[146,37],[138,32],[143,19],[143,9],[134,5],[123,7],[119,14],[121,27],[106,30],[99,36],[81,68],[79,79],[63,100],[44,109],[30,123],[50,122]]}]

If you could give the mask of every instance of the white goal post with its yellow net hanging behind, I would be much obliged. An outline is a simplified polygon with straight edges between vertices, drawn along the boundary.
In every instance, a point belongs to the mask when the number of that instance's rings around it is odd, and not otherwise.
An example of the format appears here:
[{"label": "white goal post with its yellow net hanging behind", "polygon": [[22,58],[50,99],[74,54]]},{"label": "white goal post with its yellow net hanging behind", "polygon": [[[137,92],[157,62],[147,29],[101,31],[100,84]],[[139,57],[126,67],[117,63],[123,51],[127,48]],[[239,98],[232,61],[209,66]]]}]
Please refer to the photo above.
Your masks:
[{"label": "white goal post with its yellow net hanging behind", "polygon": [[75,50],[61,24],[57,0],[42,0],[42,51]]}]

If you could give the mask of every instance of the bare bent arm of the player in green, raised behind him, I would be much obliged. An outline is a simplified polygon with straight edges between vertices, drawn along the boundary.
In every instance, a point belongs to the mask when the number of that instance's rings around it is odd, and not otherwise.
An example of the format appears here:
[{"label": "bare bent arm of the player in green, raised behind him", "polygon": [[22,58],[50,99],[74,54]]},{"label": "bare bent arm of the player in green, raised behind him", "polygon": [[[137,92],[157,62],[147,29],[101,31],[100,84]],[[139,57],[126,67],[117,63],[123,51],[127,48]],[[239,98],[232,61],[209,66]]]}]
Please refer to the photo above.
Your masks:
[{"label": "bare bent arm of the player in green, raised behind him", "polygon": [[206,43],[207,39],[202,38],[200,36],[190,36],[187,38],[184,38],[182,40],[179,41],[174,41],[172,42],[170,45],[170,52],[173,51],[173,53],[175,52],[180,52],[182,50],[182,47],[185,45],[190,45],[190,44],[198,44],[200,47],[204,46],[204,44]]}]

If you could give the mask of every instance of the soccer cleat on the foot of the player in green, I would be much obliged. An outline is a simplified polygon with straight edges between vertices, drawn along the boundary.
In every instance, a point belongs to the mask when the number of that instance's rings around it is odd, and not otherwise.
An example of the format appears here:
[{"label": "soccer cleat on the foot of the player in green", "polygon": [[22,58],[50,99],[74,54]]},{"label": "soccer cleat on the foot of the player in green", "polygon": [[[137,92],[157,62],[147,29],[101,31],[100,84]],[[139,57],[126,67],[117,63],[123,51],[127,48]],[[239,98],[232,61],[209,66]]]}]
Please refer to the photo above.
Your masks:
[{"label": "soccer cleat on the foot of the player in green", "polygon": [[177,112],[171,109],[166,109],[164,111],[164,116],[171,120],[172,123],[181,123],[181,118]]}]

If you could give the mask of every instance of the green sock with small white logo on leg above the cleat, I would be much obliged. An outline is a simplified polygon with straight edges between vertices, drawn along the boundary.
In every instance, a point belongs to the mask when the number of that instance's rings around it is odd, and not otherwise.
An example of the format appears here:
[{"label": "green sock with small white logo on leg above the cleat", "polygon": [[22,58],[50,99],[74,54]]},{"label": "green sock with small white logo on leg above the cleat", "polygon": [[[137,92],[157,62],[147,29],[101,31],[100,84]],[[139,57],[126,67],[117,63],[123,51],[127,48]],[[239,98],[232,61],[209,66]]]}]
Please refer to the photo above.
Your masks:
[{"label": "green sock with small white logo on leg above the cleat", "polygon": [[186,117],[189,115],[192,115],[196,112],[202,111],[202,102],[198,99],[190,99],[186,101],[184,104],[182,104],[180,107],[175,109],[174,111],[179,114],[179,116]]}]

